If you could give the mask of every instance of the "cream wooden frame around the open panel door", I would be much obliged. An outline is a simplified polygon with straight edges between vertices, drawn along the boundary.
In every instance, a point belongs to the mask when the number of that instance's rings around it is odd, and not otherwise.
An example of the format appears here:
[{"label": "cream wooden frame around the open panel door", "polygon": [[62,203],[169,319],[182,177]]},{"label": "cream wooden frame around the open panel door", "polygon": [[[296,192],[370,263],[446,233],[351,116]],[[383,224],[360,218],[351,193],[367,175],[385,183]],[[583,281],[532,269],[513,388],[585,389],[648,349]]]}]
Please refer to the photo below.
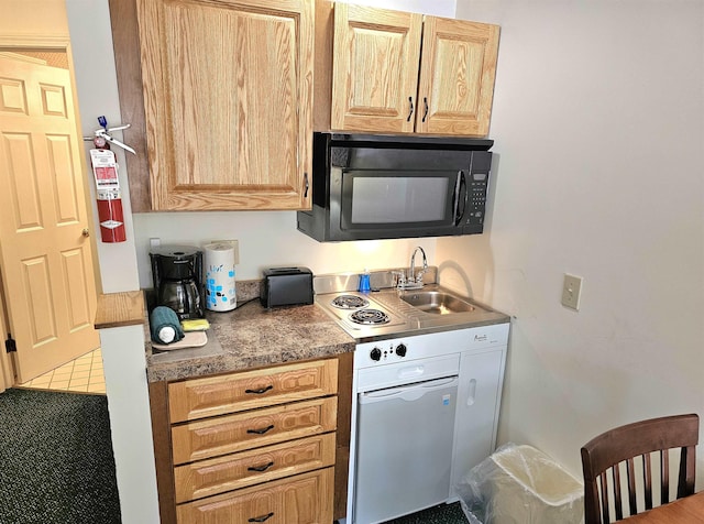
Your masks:
[{"label": "cream wooden frame around the open panel door", "polygon": [[[68,74],[70,77],[70,86],[72,94],[74,98],[74,113],[76,120],[76,137],[81,138],[82,132],[80,129],[80,111],[78,108],[78,89],[76,88],[76,76],[74,73],[74,57],[72,54],[70,47],[70,37],[68,36],[68,31],[66,31],[66,36],[63,35],[41,35],[41,34],[22,34],[22,35],[8,35],[0,34],[0,51],[13,51],[13,50],[26,50],[26,48],[42,48],[42,50],[52,50],[59,51],[66,53],[66,58],[68,59]],[[81,153],[79,156],[80,161],[80,171],[84,176],[87,176],[88,165],[87,159],[85,154],[85,148],[81,149]],[[94,220],[94,204],[90,199],[90,179],[84,186],[84,198],[86,200],[86,210],[87,210],[87,220],[88,228],[90,229],[92,234],[89,237],[90,241],[90,254],[94,260],[92,270],[94,270],[94,280],[96,283],[96,295],[100,296],[102,294],[102,282],[100,280],[100,260],[98,259],[98,244],[96,241],[96,228]],[[2,240],[0,239],[0,242]],[[4,287],[2,286],[2,279],[0,277],[0,335],[2,336],[2,345],[0,346],[0,393],[2,393],[6,389],[14,385],[14,362],[10,357],[10,353],[6,351],[4,341],[8,338],[8,329],[9,325],[7,324],[7,319],[9,318],[8,312],[6,308],[4,301]],[[12,331],[10,331],[12,332]]]}]

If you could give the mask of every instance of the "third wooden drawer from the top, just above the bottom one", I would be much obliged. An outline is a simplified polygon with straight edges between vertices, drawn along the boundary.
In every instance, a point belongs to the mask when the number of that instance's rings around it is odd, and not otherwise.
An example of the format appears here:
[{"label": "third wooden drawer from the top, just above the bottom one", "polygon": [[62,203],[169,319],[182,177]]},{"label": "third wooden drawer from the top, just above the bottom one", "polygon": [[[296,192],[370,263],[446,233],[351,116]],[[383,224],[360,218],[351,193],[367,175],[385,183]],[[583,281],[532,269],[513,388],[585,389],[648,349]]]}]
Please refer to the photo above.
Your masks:
[{"label": "third wooden drawer from the top, just above the bottom one", "polygon": [[175,468],[176,502],[202,499],[334,465],[334,434],[202,460]]}]

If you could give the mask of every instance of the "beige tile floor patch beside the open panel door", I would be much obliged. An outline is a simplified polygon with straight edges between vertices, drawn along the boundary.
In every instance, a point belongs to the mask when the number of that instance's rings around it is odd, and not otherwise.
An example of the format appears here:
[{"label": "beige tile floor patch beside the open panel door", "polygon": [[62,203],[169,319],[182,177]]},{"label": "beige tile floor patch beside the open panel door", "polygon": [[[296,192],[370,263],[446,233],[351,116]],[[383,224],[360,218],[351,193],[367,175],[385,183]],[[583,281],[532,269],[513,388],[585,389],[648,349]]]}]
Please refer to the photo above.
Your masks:
[{"label": "beige tile floor patch beside the open panel door", "polygon": [[48,373],[20,384],[20,387],[105,394],[106,380],[102,373],[102,352],[98,348]]}]

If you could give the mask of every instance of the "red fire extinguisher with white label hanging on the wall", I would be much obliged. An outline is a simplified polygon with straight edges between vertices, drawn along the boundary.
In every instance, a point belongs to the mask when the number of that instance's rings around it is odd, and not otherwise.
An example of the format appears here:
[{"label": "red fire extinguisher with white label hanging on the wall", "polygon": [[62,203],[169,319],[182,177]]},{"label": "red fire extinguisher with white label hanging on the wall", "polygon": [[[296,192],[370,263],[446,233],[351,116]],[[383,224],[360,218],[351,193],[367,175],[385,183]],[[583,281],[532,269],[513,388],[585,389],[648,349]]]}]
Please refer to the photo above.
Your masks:
[{"label": "red fire extinguisher with white label hanging on the wall", "polygon": [[90,150],[90,161],[96,178],[100,238],[103,242],[124,242],[127,236],[122,214],[122,194],[114,153],[107,148]]}]

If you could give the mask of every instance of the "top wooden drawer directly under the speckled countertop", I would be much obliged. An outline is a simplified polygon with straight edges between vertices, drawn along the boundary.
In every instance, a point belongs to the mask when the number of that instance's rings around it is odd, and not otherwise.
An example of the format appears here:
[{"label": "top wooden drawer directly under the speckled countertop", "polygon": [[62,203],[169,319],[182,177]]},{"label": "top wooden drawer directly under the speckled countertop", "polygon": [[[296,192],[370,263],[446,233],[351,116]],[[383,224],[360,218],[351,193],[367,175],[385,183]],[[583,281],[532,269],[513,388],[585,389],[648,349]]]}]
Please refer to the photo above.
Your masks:
[{"label": "top wooden drawer directly under the speckled countertop", "polygon": [[168,384],[173,423],[333,395],[338,360],[318,360]]}]

